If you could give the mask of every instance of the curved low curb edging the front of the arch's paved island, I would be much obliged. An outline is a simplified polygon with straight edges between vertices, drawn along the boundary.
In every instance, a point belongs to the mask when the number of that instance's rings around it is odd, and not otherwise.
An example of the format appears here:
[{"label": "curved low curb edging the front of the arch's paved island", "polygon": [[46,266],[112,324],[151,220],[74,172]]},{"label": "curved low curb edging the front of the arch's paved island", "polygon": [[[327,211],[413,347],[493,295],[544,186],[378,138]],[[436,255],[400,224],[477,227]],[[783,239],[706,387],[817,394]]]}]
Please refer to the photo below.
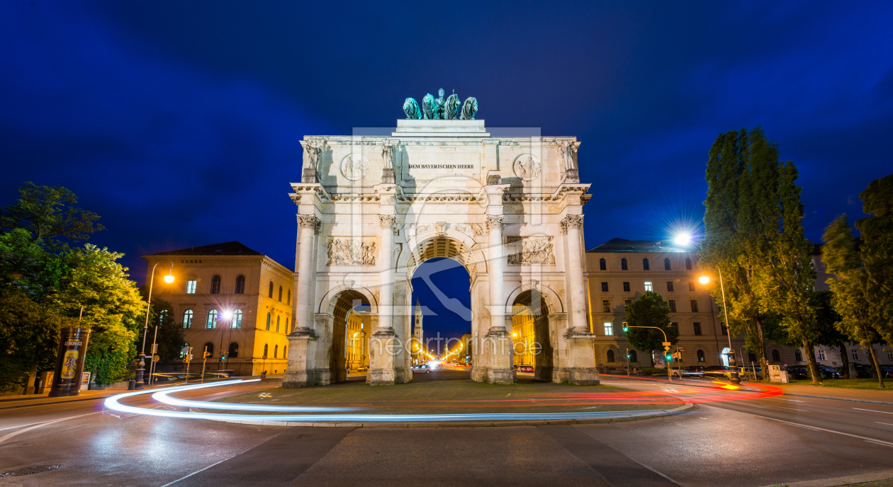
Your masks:
[{"label": "curved low curb edging the front of the arch's paved island", "polygon": [[[346,421],[338,423],[336,421],[321,421],[319,423],[298,422],[298,421],[235,421],[231,419],[211,419],[210,421],[220,421],[221,423],[235,423],[238,425],[263,425],[263,426],[314,426],[314,427],[348,427],[348,428],[480,428],[480,427],[500,427],[500,426],[541,426],[541,425],[595,425],[599,423],[622,423],[625,421],[638,421],[639,419],[652,419],[655,417],[673,416],[689,409],[694,409],[695,404],[686,402],[678,408],[658,409],[651,414],[642,415],[626,415],[616,417],[595,417],[584,419],[538,419],[538,420],[501,420],[501,421],[412,421],[412,422],[389,422],[389,421],[371,421],[368,423],[360,423],[356,421]],[[197,408],[189,408],[189,412],[200,412]],[[204,419],[204,418],[203,418]]]}]

